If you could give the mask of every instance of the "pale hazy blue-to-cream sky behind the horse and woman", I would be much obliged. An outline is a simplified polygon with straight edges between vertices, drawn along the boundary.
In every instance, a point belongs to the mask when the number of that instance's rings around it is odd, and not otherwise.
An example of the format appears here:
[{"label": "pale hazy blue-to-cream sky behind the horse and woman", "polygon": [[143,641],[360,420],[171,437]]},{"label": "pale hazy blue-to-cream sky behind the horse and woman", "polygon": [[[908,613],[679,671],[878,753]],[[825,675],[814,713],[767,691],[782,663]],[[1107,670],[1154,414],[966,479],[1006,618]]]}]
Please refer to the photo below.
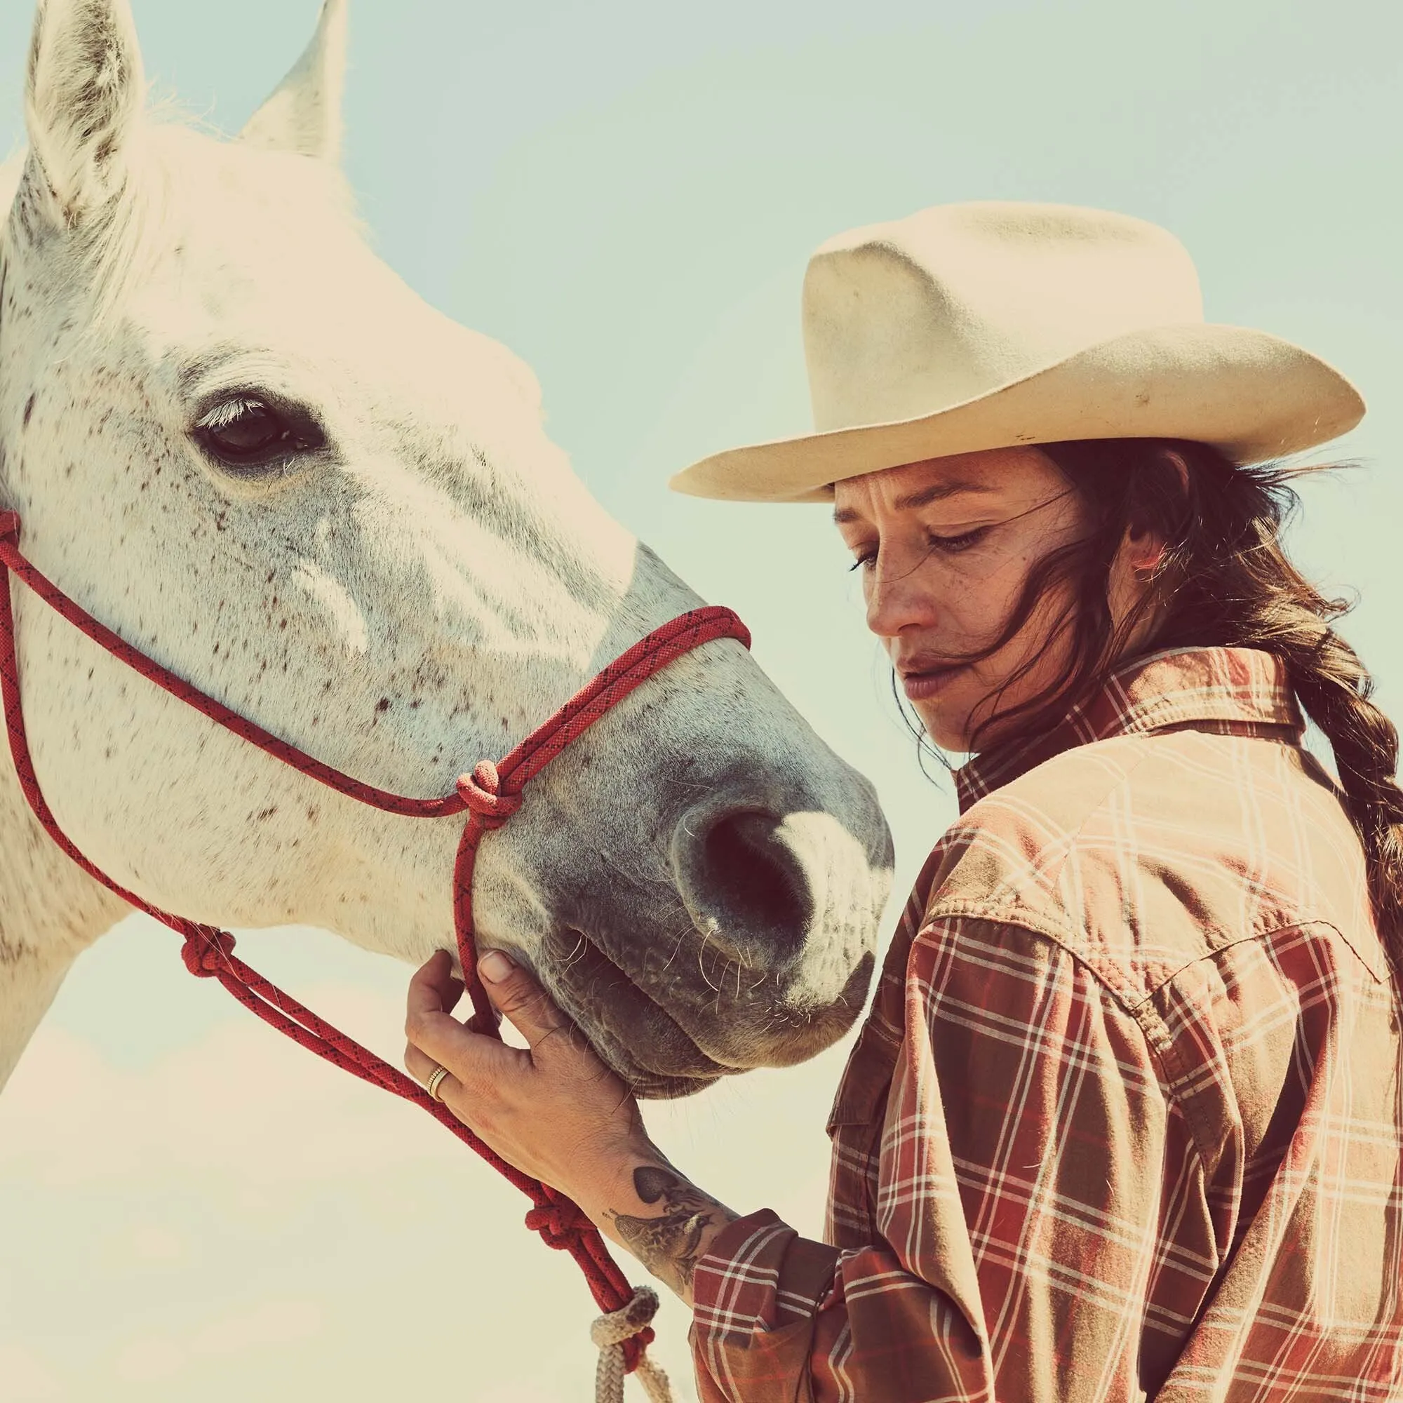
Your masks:
[{"label": "pale hazy blue-to-cream sky behind the horse and woman", "polygon": [[[147,72],[237,130],[314,0],[133,0]],[[0,143],[31,7],[0,10]],[[840,229],[969,198],[1166,224],[1211,320],[1299,341],[1371,404],[1305,490],[1306,563],[1403,713],[1403,10],[1334,0],[352,0],[348,166],[384,258],[537,370],[599,498],[878,784],[904,888],[953,815],[923,780],[821,508],[669,497],[808,427],[798,289]],[[3,860],[3,857],[0,857]],[[888,922],[890,929],[890,922]],[[306,930],[241,950],[398,1055],[407,971]],[[821,1226],[836,1049],[650,1113],[741,1211]],[[0,1099],[0,1403],[586,1396],[592,1303],[525,1201],[412,1107],[189,979],[128,920]],[[636,1275],[638,1274],[636,1268]],[[686,1313],[659,1352],[689,1374]]]}]

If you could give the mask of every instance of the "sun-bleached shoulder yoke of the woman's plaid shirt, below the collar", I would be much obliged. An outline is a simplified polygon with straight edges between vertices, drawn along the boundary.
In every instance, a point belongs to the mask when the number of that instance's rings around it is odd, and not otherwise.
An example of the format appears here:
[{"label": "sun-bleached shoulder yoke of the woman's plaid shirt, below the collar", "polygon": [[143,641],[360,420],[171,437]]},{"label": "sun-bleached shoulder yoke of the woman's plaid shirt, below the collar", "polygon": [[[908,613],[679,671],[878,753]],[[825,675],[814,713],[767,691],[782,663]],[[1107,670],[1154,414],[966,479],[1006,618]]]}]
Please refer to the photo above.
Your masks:
[{"label": "sun-bleached shoulder yoke of the woman's plaid shirt, below the collar", "polygon": [[1388,975],[1364,854],[1302,746],[1179,728],[1082,745],[974,804],[926,919],[1037,932],[1129,1012],[1239,941],[1319,927]]}]

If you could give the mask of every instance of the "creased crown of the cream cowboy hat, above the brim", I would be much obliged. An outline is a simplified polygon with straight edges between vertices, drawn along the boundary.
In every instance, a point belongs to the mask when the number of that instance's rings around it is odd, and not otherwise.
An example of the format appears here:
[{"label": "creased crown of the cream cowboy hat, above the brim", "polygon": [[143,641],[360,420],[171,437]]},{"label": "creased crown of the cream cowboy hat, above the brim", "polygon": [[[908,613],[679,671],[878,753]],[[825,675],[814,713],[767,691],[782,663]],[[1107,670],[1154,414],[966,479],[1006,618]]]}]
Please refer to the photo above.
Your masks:
[{"label": "creased crown of the cream cowboy hat, above the brim", "polygon": [[810,260],[815,428],[936,414],[1114,337],[1202,320],[1193,260],[1155,224],[1070,205],[937,205]]}]

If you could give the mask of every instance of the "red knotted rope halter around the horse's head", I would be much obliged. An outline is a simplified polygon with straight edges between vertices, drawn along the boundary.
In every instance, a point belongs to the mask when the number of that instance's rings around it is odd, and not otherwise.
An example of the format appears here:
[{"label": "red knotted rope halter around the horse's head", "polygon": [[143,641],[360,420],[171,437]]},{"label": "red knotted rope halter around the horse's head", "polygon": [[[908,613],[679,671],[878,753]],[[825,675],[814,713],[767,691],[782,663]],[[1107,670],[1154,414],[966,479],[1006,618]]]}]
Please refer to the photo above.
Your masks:
[{"label": "red knotted rope halter around the horse's head", "polygon": [[[526,1226],[539,1232],[549,1246],[563,1249],[575,1258],[600,1310],[622,1309],[633,1295],[629,1282],[609,1256],[609,1250],[593,1223],[570,1198],[508,1164],[417,1082],[410,1080],[389,1062],[318,1019],[310,1009],[303,1007],[296,999],[246,965],[234,954],[234,937],[227,930],[159,911],[142,901],[135,892],[126,891],[112,881],[73,846],[59,828],[34,773],[20,700],[20,664],[15,651],[14,607],[8,577],[14,575],[76,629],[173,697],[185,702],[224,727],[226,731],[233,731],[234,735],[257,745],[261,751],[303,774],[309,774],[328,788],[334,788],[338,794],[404,818],[449,818],[466,812],[467,822],[463,826],[463,836],[457,845],[457,859],[453,864],[453,919],[457,932],[459,960],[463,965],[467,993],[476,1010],[470,1026],[476,1031],[492,1037],[497,1037],[497,1020],[487,992],[477,976],[477,951],[473,941],[473,867],[483,835],[488,829],[501,828],[516,812],[521,807],[522,790],[529,780],[535,779],[571,741],[578,739],[606,711],[616,707],[655,672],[693,648],[717,638],[735,638],[749,647],[751,636],[745,624],[730,609],[713,606],[687,610],[687,613],[638,640],[627,652],[610,662],[593,682],[575,693],[550,720],[532,731],[504,759],[495,765],[491,760],[483,760],[471,774],[462,776],[456,793],[442,798],[407,798],[401,794],[391,794],[389,790],[376,788],[373,784],[363,784],[349,774],[331,769],[330,765],[323,765],[286,741],[279,741],[269,731],[177,678],[159,662],[119,638],[105,624],[98,623],[20,553],[20,516],[17,512],[0,512],[0,568],[4,572],[4,579],[0,581],[3,584],[0,588],[0,696],[4,700],[10,753],[14,756],[24,796],[34,810],[35,818],[43,825],[53,842],[90,877],[116,892],[137,911],[145,911],[149,916],[154,916],[184,936],[185,944],[181,955],[191,974],[217,979],[246,1009],[251,1009],[279,1033],[286,1034],[295,1042],[342,1070],[361,1078],[361,1080],[393,1092],[396,1096],[403,1096],[407,1101],[414,1101],[439,1124],[448,1127],[530,1198],[533,1207],[526,1214]],[[624,1344],[630,1371],[637,1364],[640,1351],[651,1338],[652,1330],[650,1329]]]}]

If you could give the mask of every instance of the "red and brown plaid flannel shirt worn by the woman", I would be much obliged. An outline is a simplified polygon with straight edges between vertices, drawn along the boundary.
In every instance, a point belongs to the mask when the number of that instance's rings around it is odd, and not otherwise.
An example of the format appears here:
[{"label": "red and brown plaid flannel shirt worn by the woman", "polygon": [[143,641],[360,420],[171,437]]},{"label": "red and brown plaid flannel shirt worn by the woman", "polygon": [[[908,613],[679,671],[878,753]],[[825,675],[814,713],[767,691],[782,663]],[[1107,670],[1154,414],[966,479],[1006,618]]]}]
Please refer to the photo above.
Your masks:
[{"label": "red and brown plaid flannel shirt worn by the woman", "polygon": [[1251,650],[960,772],[833,1104],[828,1243],[697,1266],[704,1403],[1403,1399],[1403,1052]]}]

